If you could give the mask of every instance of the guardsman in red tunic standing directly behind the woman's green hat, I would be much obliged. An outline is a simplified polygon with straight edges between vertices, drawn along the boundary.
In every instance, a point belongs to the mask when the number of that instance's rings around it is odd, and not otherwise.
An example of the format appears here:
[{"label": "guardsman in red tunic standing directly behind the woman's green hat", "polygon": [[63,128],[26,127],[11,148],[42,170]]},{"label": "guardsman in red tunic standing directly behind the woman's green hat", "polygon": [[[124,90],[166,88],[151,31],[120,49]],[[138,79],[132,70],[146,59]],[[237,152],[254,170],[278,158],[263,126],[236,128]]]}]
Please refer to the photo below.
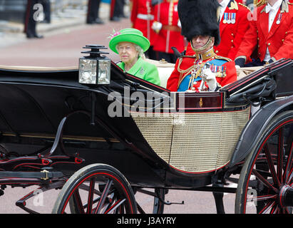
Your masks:
[{"label": "guardsman in red tunic standing directly behind the woman's green hat", "polygon": [[132,0],[130,21],[133,28],[143,33],[143,36],[150,41],[150,48],[145,52],[145,56],[156,59],[153,51],[153,40],[155,31],[151,28],[154,20],[154,7],[152,0]]}]

